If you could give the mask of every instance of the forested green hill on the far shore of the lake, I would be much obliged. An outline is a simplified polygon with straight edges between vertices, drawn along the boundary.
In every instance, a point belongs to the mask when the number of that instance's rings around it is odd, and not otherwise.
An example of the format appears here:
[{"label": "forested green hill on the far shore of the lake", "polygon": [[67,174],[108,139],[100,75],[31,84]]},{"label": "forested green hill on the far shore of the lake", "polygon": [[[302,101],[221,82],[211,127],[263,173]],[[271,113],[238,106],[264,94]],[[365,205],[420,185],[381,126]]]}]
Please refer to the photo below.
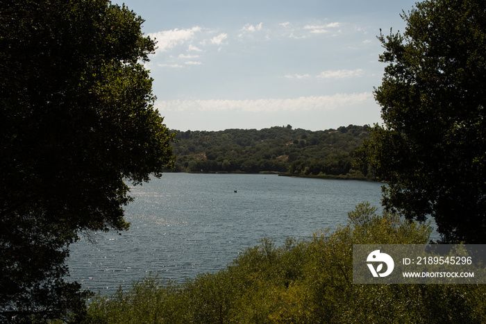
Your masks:
[{"label": "forested green hill on the far shore of the lake", "polygon": [[177,156],[174,171],[244,172],[276,171],[303,176],[366,175],[354,170],[352,154],[367,137],[369,126],[329,130],[292,129],[292,126],[262,130],[174,130],[172,144]]}]

